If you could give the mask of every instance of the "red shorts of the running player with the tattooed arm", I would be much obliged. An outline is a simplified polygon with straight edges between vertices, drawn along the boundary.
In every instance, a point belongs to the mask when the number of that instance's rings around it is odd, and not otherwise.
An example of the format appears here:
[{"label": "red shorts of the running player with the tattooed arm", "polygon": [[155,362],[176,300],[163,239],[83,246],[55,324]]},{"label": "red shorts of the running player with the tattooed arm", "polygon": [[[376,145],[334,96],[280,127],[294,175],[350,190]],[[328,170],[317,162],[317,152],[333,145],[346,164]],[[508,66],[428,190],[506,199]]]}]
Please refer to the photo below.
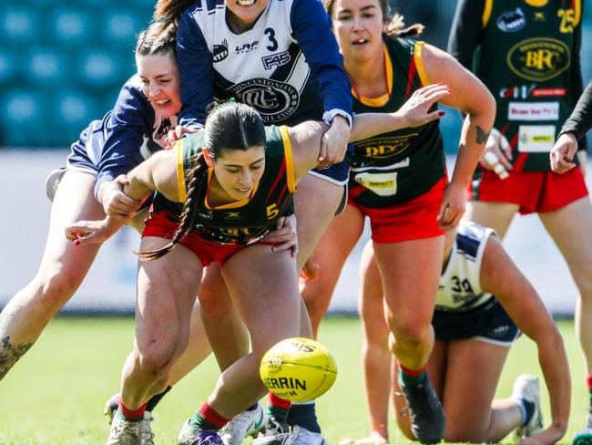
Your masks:
[{"label": "red shorts of the running player with the tattooed arm", "polygon": [[374,243],[399,243],[402,241],[432,238],[444,233],[436,221],[446,179],[438,181],[432,189],[408,202],[391,207],[373,209],[348,200],[364,216],[370,218]]}]

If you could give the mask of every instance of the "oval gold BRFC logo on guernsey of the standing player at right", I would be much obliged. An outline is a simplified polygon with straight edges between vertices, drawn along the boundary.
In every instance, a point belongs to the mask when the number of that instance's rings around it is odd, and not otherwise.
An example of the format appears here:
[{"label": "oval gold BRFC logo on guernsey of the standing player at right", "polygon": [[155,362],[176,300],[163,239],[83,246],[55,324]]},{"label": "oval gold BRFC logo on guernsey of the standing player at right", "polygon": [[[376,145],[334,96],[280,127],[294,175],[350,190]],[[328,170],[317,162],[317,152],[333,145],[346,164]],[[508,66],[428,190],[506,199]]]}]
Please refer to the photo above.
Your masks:
[{"label": "oval gold BRFC logo on guernsey of the standing player at right", "polygon": [[571,64],[571,54],[561,40],[535,37],[512,47],[506,61],[516,76],[543,82],[565,71]]}]

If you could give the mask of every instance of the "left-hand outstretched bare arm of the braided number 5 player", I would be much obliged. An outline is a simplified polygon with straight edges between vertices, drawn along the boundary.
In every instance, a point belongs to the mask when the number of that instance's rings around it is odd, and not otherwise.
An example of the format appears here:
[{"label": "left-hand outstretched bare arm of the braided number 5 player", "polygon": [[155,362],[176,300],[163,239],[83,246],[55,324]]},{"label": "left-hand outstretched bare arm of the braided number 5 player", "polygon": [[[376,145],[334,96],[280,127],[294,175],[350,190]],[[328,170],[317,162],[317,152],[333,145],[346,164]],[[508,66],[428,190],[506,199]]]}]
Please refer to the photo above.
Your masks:
[{"label": "left-hand outstretched bare arm of the braided number 5 player", "polygon": [[[158,151],[127,175],[123,192],[142,202],[153,191],[160,191],[171,201],[179,201],[177,186],[177,157],[175,150]],[[126,219],[107,216],[102,221],[81,221],[66,227],[66,238],[75,245],[103,243],[126,223]]]}]

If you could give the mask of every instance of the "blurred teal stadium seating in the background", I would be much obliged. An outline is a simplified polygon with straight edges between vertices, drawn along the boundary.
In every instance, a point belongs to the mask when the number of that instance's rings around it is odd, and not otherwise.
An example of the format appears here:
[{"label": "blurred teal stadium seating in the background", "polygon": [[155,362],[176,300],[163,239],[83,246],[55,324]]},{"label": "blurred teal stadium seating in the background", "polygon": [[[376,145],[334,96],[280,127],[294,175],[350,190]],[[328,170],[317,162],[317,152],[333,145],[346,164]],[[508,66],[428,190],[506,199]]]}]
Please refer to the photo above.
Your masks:
[{"label": "blurred teal stadium seating in the background", "polygon": [[[111,109],[135,72],[133,50],[154,0],[3,0],[0,2],[0,147],[66,147],[91,119]],[[424,39],[446,47],[454,0],[392,0]],[[592,7],[585,10],[582,54],[590,54]],[[584,81],[592,59],[582,57]],[[35,128],[35,130],[31,130]],[[454,152],[460,119],[442,122]]]}]

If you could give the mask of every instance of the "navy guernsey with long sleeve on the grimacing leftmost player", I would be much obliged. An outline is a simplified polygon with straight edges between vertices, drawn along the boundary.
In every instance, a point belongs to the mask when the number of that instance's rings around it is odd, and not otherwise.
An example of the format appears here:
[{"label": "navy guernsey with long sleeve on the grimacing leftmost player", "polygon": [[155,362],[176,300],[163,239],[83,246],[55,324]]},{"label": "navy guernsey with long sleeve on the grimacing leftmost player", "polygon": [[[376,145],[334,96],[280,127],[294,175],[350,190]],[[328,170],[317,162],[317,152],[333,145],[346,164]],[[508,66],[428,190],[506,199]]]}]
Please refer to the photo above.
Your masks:
[{"label": "navy guernsey with long sleeve on the grimacing leftmost player", "polygon": [[[155,113],[133,76],[119,91],[115,107],[88,126],[84,150],[97,167],[95,195],[100,185],[126,174],[156,150],[162,138],[177,125],[177,117],[162,119]],[[79,141],[76,143],[80,143]]]}]

